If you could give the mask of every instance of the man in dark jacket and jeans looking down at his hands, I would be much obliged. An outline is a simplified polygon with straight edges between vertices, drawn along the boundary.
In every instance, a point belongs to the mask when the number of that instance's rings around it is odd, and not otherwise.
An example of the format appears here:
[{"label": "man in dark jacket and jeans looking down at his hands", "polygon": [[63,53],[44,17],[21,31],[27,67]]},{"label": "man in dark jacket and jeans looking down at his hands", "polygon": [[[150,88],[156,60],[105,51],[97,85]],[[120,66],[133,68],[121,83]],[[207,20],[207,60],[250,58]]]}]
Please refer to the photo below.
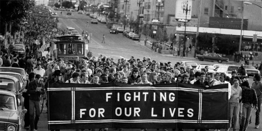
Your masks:
[{"label": "man in dark jacket and jeans looking down at his hands", "polygon": [[[40,97],[45,94],[44,84],[40,81],[41,75],[36,74],[35,80],[28,84],[27,93],[29,97],[29,114],[30,114],[30,129],[37,130],[38,120],[40,117]],[[35,119],[34,119],[35,113]]]}]

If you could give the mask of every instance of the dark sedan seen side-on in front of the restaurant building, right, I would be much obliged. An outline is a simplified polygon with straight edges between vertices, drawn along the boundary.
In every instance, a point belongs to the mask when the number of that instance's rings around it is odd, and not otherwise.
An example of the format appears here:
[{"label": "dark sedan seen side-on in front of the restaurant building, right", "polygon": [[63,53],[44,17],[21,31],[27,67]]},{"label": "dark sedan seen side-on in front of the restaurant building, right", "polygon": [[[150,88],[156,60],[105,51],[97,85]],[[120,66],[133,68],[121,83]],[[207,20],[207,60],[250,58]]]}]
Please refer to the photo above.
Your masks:
[{"label": "dark sedan seen side-on in front of the restaurant building, right", "polygon": [[207,60],[207,61],[217,61],[218,63],[222,63],[223,61],[226,61],[226,62],[229,61],[228,58],[222,57],[221,55],[215,54],[215,53],[209,53],[209,54],[207,54],[207,55],[197,54],[197,55],[196,55],[196,58],[198,58],[199,61],[204,61],[204,60]]}]

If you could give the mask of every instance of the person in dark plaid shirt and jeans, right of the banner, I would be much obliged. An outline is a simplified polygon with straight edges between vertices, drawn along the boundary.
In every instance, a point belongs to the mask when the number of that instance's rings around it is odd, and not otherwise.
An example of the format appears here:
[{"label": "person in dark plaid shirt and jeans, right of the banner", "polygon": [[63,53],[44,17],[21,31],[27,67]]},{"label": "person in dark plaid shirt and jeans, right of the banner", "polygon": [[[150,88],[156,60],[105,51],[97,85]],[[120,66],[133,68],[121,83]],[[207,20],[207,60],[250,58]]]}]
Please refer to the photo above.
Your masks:
[{"label": "person in dark plaid shirt and jeans, right of the banner", "polygon": [[250,88],[248,81],[242,83],[242,120],[239,131],[247,131],[250,116],[252,114],[252,108],[255,107],[257,111],[257,93],[255,89]]}]

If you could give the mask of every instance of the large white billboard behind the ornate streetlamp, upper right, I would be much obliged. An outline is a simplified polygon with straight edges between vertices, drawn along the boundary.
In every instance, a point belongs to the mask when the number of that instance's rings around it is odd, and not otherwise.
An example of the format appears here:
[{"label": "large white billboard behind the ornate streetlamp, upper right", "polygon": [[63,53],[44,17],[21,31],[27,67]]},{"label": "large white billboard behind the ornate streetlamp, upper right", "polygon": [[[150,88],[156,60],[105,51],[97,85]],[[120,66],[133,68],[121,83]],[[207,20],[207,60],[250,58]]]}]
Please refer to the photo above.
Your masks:
[{"label": "large white billboard behind the ornate streetlamp, upper right", "polygon": [[[183,9],[187,7],[186,11]],[[176,13],[175,19],[180,22],[188,22],[191,20],[191,9],[192,9],[192,0],[177,0],[176,2]]]}]

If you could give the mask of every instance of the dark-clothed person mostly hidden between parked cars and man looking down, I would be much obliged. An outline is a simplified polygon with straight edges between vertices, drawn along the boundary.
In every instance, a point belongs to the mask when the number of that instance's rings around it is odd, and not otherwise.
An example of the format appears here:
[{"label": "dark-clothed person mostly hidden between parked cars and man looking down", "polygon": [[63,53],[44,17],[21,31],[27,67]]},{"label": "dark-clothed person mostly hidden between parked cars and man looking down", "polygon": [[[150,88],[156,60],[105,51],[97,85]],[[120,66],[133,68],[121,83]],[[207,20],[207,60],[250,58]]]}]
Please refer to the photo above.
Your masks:
[{"label": "dark-clothed person mostly hidden between parked cars and man looking down", "polygon": [[29,94],[27,93],[28,90],[28,85],[30,82],[35,80],[35,73],[31,72],[28,74],[28,80],[26,80],[26,86],[25,86],[25,91],[22,91],[22,96],[24,97],[24,106],[25,109],[27,110],[27,113],[25,113],[25,118],[24,118],[24,129],[28,130],[29,125],[30,125],[30,115],[29,115]]}]

